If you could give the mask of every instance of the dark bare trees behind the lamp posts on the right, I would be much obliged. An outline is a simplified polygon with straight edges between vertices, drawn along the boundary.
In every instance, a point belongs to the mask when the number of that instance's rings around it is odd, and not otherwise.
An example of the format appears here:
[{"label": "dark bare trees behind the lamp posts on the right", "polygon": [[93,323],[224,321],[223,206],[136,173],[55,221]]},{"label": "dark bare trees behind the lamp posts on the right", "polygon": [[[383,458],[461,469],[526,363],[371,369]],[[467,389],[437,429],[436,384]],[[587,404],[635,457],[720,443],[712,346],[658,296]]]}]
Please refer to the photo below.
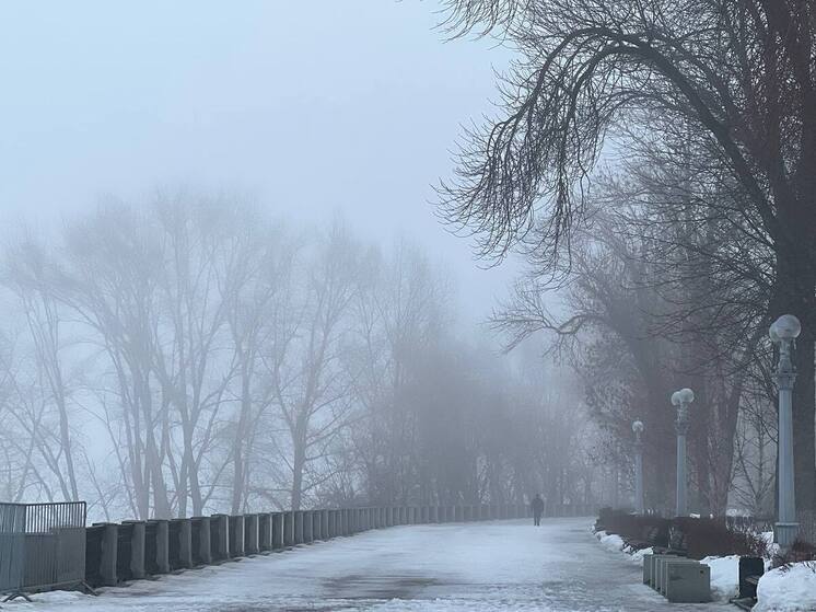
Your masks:
[{"label": "dark bare trees behind the lamp posts on the right", "polygon": [[[672,506],[666,397],[688,385],[700,509],[733,495],[772,511],[766,334],[795,314],[796,501],[816,509],[813,2],[446,4],[454,35],[517,51],[501,116],[468,135],[441,189],[486,253],[529,255],[498,324],[511,342],[534,330],[567,340],[613,454],[631,418],[646,419],[653,505]],[[553,287],[567,301],[556,315],[543,298]]]}]

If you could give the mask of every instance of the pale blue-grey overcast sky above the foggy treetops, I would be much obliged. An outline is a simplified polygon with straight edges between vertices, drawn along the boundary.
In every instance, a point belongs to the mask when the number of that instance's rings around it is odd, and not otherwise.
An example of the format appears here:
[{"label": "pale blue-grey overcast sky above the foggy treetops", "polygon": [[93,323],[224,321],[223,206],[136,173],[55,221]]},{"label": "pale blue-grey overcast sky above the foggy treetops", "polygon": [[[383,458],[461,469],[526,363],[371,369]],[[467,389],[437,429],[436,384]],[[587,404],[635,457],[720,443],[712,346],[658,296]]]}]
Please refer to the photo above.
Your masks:
[{"label": "pale blue-grey overcast sky above the foggy treetops", "polygon": [[444,43],[418,0],[0,4],[0,220],[60,220],[158,185],[249,193],[308,221],[423,243],[485,316],[513,270],[440,226],[461,124],[509,51]]}]

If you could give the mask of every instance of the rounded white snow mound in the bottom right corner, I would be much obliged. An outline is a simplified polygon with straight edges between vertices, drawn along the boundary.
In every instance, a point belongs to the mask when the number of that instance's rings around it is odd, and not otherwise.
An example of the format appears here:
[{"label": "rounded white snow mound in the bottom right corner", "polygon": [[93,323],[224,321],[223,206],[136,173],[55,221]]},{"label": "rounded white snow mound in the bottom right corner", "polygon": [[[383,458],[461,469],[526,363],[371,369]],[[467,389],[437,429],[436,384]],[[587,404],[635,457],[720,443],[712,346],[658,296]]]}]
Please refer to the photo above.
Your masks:
[{"label": "rounded white snow mound in the bottom right corner", "polygon": [[804,612],[816,610],[816,567],[795,563],[771,569],[759,579],[754,612]]}]

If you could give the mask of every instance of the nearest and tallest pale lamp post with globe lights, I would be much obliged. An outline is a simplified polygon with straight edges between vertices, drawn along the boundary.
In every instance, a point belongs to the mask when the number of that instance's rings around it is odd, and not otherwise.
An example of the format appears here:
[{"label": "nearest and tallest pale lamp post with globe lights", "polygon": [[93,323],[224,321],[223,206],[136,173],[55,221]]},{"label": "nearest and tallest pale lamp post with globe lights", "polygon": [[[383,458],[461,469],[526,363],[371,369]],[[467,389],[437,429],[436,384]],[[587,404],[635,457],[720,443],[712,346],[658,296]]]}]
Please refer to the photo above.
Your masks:
[{"label": "nearest and tallest pale lamp post with globe lights", "polygon": [[777,543],[783,549],[793,544],[798,531],[793,480],[793,382],[796,372],[791,361],[791,346],[800,332],[802,325],[792,314],[783,314],[770,328],[771,342],[779,345],[779,363],[774,376],[779,389],[779,517],[774,535]]}]

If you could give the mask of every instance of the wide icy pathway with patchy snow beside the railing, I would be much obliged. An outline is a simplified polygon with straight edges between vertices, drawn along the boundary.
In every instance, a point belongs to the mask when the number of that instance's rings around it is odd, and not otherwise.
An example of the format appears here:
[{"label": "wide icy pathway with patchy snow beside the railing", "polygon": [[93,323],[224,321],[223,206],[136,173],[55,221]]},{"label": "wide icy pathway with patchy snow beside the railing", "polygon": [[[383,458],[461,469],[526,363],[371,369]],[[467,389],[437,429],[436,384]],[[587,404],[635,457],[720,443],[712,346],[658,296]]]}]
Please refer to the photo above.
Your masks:
[{"label": "wide icy pathway with patchy snow beside the railing", "polygon": [[604,550],[591,519],[396,527],[103,590],[37,596],[32,612],[627,611],[669,605]]}]

